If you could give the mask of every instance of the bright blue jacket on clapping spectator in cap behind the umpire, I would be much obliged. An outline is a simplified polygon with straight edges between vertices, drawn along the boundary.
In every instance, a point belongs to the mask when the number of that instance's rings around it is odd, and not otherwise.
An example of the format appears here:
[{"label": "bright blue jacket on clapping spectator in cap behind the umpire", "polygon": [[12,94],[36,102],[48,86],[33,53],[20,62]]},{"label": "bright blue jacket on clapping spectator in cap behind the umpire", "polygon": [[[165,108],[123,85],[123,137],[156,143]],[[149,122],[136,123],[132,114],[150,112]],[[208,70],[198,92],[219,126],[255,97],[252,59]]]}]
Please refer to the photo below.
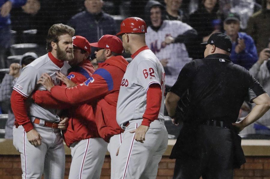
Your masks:
[{"label": "bright blue jacket on clapping spectator in cap behind the umpire", "polygon": [[238,32],[238,38],[244,39],[246,47],[241,53],[237,54],[235,53],[235,46],[238,44],[238,42],[236,41],[232,43],[232,52],[230,58],[234,64],[238,64],[248,70],[254,63],[258,61],[257,49],[252,37],[246,33]]}]

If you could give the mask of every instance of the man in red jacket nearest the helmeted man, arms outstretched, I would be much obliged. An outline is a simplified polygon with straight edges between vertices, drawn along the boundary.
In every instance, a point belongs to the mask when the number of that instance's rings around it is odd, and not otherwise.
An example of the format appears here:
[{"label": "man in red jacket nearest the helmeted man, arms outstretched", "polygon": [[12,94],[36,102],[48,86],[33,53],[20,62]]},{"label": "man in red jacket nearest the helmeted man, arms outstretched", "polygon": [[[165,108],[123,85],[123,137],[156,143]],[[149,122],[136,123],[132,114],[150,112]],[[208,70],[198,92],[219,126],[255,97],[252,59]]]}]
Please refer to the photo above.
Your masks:
[{"label": "man in red jacket nearest the helmeted man, arms outstretched", "polygon": [[[39,83],[51,92],[52,96],[65,103],[91,102],[99,135],[110,142],[111,177],[116,174],[116,151],[121,143],[122,129],[116,122],[116,104],[122,78],[128,62],[120,54],[123,51],[122,41],[114,35],[104,35],[97,43],[95,51],[97,61],[102,63],[95,73],[82,84],[73,88],[54,86],[50,76],[44,74]],[[48,79],[48,80],[46,80]]]}]

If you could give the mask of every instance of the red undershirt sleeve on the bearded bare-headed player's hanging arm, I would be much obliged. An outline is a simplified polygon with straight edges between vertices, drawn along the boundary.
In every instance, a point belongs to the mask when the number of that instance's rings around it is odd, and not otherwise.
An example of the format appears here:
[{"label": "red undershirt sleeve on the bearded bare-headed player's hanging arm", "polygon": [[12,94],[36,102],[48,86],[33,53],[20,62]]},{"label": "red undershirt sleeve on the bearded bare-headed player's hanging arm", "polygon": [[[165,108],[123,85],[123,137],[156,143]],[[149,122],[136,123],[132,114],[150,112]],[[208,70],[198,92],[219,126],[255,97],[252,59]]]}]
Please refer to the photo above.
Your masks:
[{"label": "red undershirt sleeve on the bearded bare-headed player's hanging arm", "polygon": [[13,90],[10,97],[10,103],[16,122],[19,125],[22,125],[24,130],[28,132],[29,130],[34,129],[34,126],[27,115],[27,109],[25,104],[26,99],[27,99],[26,97],[22,96],[17,91]]}]

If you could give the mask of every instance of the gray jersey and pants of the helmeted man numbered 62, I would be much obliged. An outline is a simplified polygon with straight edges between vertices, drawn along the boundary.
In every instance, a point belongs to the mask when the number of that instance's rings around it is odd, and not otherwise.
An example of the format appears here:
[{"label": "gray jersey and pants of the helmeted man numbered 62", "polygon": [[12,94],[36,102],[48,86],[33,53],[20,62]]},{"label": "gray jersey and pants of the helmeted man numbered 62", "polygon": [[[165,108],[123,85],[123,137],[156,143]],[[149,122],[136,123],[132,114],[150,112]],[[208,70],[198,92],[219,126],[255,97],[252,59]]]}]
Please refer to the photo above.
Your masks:
[{"label": "gray jersey and pants of the helmeted man numbered 62", "polygon": [[145,47],[128,65],[120,87],[116,120],[119,125],[129,121],[123,133],[116,161],[115,178],[156,178],[158,163],[168,145],[168,132],[164,125],[164,95],[158,119],[150,124],[146,140],[134,140],[130,131],[140,126],[146,110],[146,92],[153,83],[165,91],[164,69],[155,54]]}]

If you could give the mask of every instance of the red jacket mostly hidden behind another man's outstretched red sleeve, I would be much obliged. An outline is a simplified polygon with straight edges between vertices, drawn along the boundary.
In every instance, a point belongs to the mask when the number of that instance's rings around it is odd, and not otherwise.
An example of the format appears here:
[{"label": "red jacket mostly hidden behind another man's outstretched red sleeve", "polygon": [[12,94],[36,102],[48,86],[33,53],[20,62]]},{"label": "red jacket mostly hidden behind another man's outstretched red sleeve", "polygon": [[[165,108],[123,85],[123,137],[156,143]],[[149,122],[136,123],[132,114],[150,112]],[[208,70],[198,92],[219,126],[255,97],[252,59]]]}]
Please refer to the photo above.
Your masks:
[{"label": "red jacket mostly hidden behind another man's outstretched red sleeve", "polygon": [[[77,67],[71,68],[67,78],[74,83],[82,83],[92,76],[95,69],[89,60],[84,60]],[[63,84],[62,86],[65,87]],[[74,142],[83,139],[100,137],[98,134],[95,116],[91,104],[71,104],[63,103],[52,97],[49,91],[36,91],[33,94],[35,103],[55,109],[68,109],[68,126],[63,131],[63,138],[69,147]]]}]

